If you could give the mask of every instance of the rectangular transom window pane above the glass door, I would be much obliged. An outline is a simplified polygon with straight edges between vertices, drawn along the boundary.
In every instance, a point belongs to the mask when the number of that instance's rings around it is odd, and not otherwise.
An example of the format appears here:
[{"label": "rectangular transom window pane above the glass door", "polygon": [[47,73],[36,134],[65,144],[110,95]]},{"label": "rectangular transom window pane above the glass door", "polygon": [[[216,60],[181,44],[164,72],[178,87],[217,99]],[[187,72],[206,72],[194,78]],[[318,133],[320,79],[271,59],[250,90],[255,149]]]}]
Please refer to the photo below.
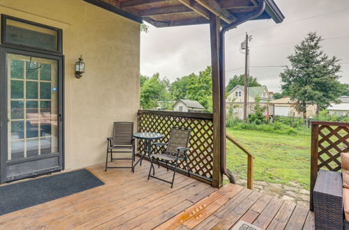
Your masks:
[{"label": "rectangular transom window pane above the glass door", "polygon": [[57,38],[54,29],[6,19],[6,42],[57,51]]}]

